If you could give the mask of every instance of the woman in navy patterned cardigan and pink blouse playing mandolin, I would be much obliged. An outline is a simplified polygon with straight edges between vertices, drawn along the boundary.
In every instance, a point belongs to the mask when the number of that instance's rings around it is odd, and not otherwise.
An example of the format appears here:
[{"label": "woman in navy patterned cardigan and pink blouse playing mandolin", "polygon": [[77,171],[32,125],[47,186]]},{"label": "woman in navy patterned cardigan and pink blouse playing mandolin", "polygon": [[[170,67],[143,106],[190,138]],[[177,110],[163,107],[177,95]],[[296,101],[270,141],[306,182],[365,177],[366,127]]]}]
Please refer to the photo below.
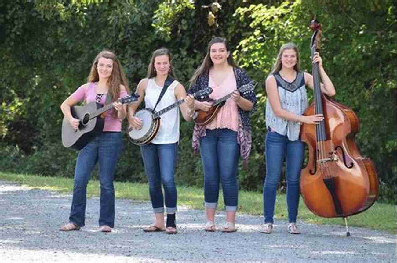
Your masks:
[{"label": "woman in navy patterned cardigan and pink blouse playing mandolin", "polygon": [[[204,61],[191,78],[189,94],[208,86],[213,89],[211,99],[225,95],[226,100],[212,122],[195,125],[193,148],[200,148],[204,169],[204,206],[207,223],[205,231],[216,231],[214,215],[218,205],[219,183],[222,183],[226,208],[224,232],[234,232],[238,202],[237,168],[239,155],[247,162],[251,150],[251,126],[249,114],[253,112],[256,95],[253,90],[238,90],[251,80],[238,68],[225,38],[215,37],[208,44]],[[195,108],[209,112],[212,102],[196,101]]]}]

